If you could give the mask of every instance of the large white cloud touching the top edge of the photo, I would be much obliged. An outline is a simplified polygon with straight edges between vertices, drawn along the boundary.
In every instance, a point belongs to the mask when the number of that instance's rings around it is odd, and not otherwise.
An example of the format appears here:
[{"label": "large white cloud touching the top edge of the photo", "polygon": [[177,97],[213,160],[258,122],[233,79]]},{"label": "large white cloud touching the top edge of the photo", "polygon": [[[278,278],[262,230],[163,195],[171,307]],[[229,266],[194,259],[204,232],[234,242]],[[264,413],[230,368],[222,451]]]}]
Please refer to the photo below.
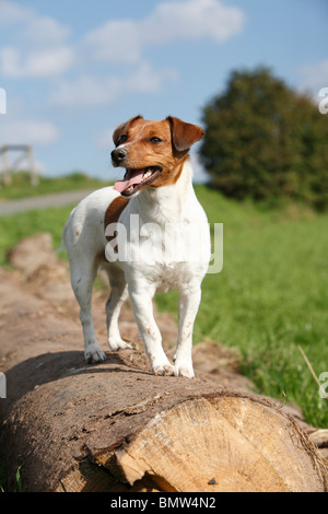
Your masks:
[{"label": "large white cloud touching the top edge of the photo", "polygon": [[185,0],[157,4],[149,16],[139,20],[109,20],[84,38],[95,58],[112,62],[134,62],[143,48],[168,42],[209,37],[223,42],[238,34],[244,12],[220,0]]}]

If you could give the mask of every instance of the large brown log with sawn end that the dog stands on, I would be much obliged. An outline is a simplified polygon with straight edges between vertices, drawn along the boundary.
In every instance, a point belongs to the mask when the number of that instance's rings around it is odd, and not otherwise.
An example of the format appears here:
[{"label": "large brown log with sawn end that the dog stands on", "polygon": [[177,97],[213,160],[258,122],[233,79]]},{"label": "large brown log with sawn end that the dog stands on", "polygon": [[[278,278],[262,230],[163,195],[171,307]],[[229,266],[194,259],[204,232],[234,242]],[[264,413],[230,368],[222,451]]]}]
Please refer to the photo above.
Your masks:
[{"label": "large brown log with sawn end that the dog stands on", "polygon": [[[316,430],[255,395],[233,351],[199,344],[196,379],[154,376],[128,306],[121,327],[133,350],[86,365],[49,236],[22,242],[10,259],[16,270],[0,269],[0,442],[7,475],[22,466],[26,490],[327,491]],[[94,317],[106,350],[102,292]],[[175,323],[157,320],[172,354]]]}]

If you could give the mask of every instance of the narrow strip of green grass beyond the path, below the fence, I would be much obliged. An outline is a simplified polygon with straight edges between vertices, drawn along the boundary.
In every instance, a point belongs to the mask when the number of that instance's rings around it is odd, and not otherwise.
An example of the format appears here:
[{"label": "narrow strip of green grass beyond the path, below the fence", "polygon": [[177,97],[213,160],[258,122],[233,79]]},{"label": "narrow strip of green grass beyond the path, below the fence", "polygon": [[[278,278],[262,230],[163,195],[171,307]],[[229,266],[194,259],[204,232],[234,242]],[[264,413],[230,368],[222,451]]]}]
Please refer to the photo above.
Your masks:
[{"label": "narrow strip of green grass beyond the path, below the fence", "polygon": [[32,186],[28,174],[26,172],[19,172],[13,174],[11,185],[5,186],[0,183],[0,199],[12,200],[15,198],[27,198],[74,189],[96,189],[108,184],[109,183],[104,183],[97,178],[91,178],[83,173],[75,172],[59,178],[40,176],[38,185]]}]

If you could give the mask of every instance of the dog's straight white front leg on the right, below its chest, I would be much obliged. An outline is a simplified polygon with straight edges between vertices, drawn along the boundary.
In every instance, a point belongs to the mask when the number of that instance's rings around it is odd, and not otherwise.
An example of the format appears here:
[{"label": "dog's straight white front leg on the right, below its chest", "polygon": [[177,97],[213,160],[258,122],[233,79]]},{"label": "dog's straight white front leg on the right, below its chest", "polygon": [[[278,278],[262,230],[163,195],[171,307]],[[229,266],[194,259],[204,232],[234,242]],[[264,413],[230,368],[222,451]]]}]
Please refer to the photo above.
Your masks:
[{"label": "dog's straight white front leg on the right, below its chest", "polygon": [[180,290],[178,306],[178,340],[175,354],[176,373],[194,378],[192,367],[192,330],[197,311],[200,303],[201,290],[199,285]]}]

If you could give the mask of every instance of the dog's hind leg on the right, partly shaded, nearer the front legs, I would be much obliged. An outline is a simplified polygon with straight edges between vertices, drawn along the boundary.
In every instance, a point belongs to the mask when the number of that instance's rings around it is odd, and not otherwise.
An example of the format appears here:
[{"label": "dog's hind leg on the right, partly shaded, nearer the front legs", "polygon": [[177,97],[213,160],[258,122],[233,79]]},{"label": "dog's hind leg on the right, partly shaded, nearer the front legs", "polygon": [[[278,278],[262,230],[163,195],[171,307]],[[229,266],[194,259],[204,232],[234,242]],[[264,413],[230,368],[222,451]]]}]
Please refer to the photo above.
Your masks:
[{"label": "dog's hind leg on the right, partly shaded, nearer the front legs", "polygon": [[118,317],[124,302],[128,297],[128,287],[125,274],[119,269],[107,269],[110,284],[110,295],[106,302],[106,322],[108,346],[112,351],[131,349],[131,344],[124,341],[118,328]]}]

